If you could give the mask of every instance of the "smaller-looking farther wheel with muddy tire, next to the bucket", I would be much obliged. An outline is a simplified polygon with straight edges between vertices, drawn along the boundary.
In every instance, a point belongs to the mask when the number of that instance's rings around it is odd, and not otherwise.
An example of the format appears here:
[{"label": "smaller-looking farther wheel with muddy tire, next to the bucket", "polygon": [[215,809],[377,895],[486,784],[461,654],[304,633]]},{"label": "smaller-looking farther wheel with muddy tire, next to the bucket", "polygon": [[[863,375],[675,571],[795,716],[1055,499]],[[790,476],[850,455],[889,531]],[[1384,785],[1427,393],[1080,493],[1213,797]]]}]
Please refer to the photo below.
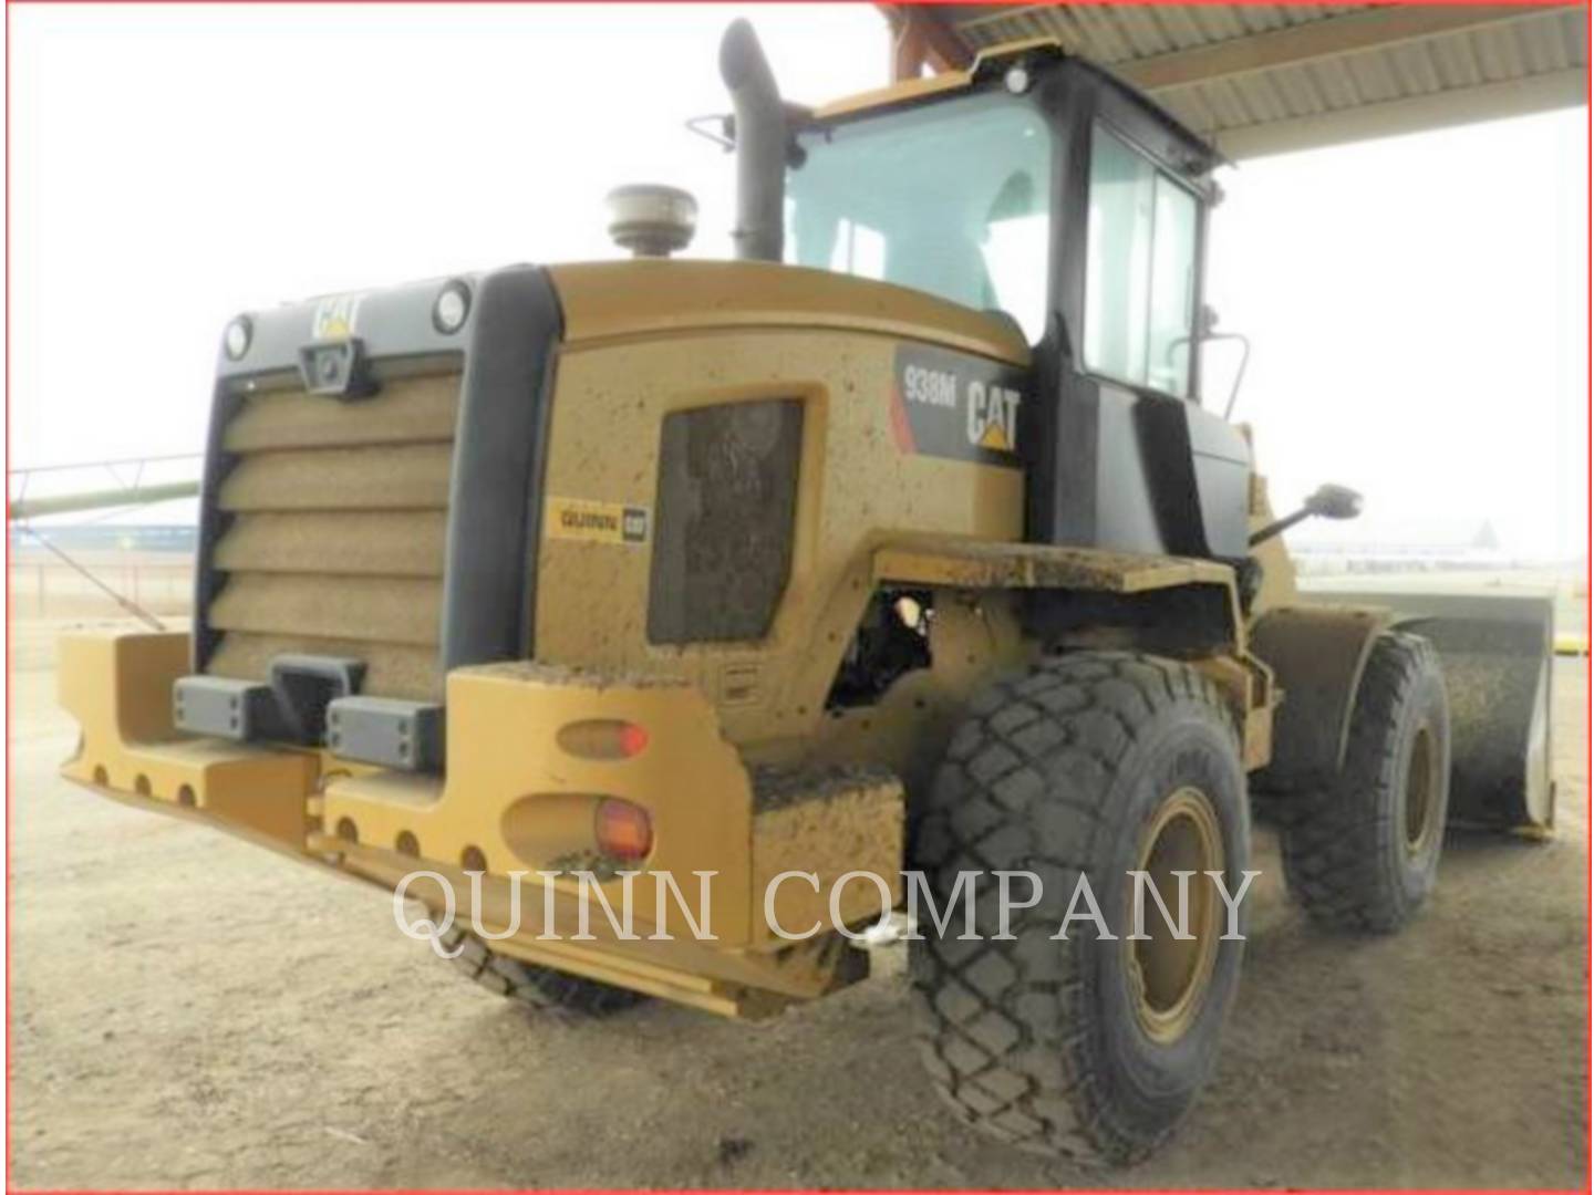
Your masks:
[{"label": "smaller-looking farther wheel with muddy tire, next to the bucket", "polygon": [[1350,715],[1345,765],[1282,800],[1285,881],[1313,921],[1392,934],[1433,891],[1451,792],[1451,723],[1433,645],[1387,631]]}]

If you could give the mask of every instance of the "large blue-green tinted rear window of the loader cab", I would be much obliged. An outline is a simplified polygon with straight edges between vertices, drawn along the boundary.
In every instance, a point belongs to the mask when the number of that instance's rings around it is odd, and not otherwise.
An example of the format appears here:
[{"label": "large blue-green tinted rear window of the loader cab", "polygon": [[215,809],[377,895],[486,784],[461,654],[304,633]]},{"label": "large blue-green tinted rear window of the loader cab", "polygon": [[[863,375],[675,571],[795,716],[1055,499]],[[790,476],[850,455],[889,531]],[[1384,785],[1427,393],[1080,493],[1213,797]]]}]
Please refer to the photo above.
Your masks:
[{"label": "large blue-green tinted rear window of the loader cab", "polygon": [[786,260],[896,282],[1046,330],[1052,139],[1006,94],[799,135]]}]

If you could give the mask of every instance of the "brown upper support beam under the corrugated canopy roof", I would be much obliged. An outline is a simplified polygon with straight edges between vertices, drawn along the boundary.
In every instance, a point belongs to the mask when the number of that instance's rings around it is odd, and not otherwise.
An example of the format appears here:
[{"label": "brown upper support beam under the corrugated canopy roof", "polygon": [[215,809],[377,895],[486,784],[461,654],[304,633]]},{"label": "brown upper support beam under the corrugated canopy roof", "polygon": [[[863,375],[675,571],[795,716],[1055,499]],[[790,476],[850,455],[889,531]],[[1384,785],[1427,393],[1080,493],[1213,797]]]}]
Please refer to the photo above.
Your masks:
[{"label": "brown upper support beam under the corrugated canopy roof", "polygon": [[1390,5],[1321,18],[1269,33],[1218,41],[1196,49],[1122,62],[1113,70],[1144,91],[1170,91],[1197,83],[1251,75],[1275,67],[1382,49],[1401,41],[1460,33],[1502,21],[1557,16],[1564,5]]}]

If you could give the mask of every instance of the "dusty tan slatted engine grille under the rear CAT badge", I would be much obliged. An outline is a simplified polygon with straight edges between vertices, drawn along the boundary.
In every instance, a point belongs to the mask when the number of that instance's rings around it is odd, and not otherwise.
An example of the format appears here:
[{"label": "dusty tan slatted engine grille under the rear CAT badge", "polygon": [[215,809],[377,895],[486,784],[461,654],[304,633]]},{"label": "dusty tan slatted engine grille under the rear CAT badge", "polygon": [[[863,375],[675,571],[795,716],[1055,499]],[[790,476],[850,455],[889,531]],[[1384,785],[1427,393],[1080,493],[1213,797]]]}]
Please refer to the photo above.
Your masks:
[{"label": "dusty tan slatted engine grille under the rear CAT badge", "polygon": [[389,378],[371,398],[242,398],[210,558],[206,671],[266,680],[273,656],[343,655],[365,693],[443,699],[438,650],[457,373]]}]

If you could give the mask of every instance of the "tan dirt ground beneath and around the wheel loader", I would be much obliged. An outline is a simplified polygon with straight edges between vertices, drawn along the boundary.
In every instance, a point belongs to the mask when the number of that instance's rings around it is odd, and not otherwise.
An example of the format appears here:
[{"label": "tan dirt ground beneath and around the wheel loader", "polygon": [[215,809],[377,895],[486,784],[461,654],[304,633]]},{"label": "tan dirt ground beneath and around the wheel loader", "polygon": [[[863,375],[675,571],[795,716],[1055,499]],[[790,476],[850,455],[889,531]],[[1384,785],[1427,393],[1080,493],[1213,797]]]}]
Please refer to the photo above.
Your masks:
[{"label": "tan dirt ground beneath and around the wheel loader", "polygon": [[1452,833],[1401,937],[1309,927],[1261,836],[1216,1082],[1165,1152],[1090,1174],[942,1112],[897,958],[765,1025],[536,1020],[381,892],[57,781],[48,655],[24,636],[13,680],[13,1185],[1588,1184],[1581,661],[1554,841]]}]

